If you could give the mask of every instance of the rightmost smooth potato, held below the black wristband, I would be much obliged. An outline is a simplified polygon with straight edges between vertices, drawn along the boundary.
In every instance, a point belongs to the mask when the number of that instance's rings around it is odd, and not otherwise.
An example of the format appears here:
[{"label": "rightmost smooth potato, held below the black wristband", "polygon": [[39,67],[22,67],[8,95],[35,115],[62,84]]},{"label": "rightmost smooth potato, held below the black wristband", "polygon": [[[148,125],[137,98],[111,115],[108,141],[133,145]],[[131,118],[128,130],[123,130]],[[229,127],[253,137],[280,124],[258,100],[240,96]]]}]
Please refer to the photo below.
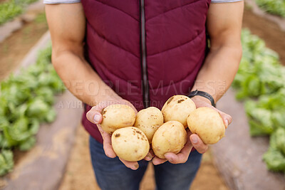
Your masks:
[{"label": "rightmost smooth potato, held below the black wristband", "polygon": [[187,125],[198,134],[204,144],[215,144],[224,137],[225,126],[221,115],[212,108],[199,107],[190,113]]}]

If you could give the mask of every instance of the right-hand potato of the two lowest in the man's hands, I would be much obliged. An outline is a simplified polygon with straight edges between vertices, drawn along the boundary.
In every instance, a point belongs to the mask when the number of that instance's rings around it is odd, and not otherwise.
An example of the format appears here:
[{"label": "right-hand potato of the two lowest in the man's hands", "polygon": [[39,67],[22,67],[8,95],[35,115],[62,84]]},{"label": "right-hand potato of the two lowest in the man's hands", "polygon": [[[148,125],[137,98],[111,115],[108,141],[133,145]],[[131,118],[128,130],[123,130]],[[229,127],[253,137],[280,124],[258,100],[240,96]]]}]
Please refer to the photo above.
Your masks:
[{"label": "right-hand potato of the two lowest in the man's hands", "polygon": [[180,122],[165,122],[153,135],[152,149],[157,157],[165,159],[165,153],[177,154],[184,147],[186,141],[187,132]]}]

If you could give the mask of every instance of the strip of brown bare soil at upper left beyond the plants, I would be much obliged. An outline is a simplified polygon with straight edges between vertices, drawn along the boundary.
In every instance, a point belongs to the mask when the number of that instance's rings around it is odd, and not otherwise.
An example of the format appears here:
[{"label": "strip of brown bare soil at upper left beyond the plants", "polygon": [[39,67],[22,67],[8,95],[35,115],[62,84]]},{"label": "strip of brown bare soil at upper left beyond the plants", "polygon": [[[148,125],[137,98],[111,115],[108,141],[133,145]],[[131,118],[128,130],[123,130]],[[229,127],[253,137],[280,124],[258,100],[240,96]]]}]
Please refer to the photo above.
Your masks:
[{"label": "strip of brown bare soil at upper left beyond the plants", "polygon": [[34,21],[25,23],[23,28],[0,43],[0,80],[6,78],[21,63],[26,53],[47,30],[46,17],[42,12]]}]

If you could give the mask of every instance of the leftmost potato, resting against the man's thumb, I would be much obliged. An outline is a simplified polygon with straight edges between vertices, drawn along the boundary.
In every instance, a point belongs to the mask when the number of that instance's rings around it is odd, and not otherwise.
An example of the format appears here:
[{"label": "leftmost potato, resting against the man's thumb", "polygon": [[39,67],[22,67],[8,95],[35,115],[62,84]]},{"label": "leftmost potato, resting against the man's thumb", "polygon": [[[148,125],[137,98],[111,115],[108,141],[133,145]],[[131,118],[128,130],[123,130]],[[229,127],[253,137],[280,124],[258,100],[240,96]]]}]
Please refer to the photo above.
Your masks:
[{"label": "leftmost potato, resting against the man's thumb", "polygon": [[128,105],[109,105],[102,112],[103,121],[101,127],[105,132],[111,134],[122,127],[130,127],[135,123],[135,111]]}]

